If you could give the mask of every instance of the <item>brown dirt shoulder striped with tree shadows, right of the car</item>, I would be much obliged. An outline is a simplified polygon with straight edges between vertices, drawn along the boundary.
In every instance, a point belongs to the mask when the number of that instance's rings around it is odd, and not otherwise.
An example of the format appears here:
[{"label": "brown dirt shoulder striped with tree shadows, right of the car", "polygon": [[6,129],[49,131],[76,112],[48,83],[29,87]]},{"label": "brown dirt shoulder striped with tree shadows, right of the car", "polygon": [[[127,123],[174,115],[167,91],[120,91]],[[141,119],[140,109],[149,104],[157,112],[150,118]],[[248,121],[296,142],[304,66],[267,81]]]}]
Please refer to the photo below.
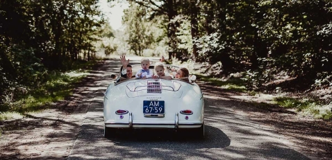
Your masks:
[{"label": "brown dirt shoulder striped with tree shadows, right of the car", "polygon": [[[251,120],[273,126],[279,133],[289,136],[293,142],[297,143],[300,150],[314,155],[317,159],[331,159],[329,157],[332,155],[332,121],[305,118],[294,111],[266,102],[248,102],[243,99],[245,97],[243,93],[227,91],[220,87],[206,85],[204,82],[200,82],[199,85],[204,96],[213,97],[205,98],[209,106],[205,110],[206,113],[227,116],[225,109],[244,112]],[[210,121],[216,120],[211,118]],[[250,125],[252,124],[248,126]],[[238,130],[238,132],[241,131]]]}]

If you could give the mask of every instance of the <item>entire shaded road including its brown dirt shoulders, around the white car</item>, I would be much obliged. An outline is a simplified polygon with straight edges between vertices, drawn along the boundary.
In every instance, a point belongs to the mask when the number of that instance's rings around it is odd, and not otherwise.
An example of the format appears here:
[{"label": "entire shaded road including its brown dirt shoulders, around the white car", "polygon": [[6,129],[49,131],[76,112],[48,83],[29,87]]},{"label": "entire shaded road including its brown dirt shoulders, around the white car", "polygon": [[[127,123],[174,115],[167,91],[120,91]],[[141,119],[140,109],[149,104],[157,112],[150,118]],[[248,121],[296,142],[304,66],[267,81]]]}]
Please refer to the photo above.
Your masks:
[{"label": "entire shaded road including its brown dirt shoulders, around the white car", "polygon": [[[129,57],[139,64],[140,57]],[[101,62],[73,96],[26,118],[0,122],[0,159],[330,159],[331,122],[301,118],[256,97],[206,82],[206,136],[172,130],[123,132],[103,138],[103,92],[119,59]],[[255,102],[256,102],[255,101]],[[258,101],[257,101],[258,102]]]}]

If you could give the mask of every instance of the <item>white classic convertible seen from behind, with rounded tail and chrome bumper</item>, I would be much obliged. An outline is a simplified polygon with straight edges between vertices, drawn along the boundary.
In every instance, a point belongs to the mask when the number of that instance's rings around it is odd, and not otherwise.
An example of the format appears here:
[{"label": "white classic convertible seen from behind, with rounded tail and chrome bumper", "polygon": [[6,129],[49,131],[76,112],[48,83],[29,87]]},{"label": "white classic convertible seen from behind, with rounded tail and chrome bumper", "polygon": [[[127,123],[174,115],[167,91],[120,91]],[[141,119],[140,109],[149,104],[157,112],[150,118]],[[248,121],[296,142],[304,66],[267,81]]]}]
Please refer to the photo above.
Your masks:
[{"label": "white classic convertible seen from behind, with rounded tail and chrome bumper", "polygon": [[[133,65],[132,69],[135,74],[142,68]],[[165,71],[171,74],[174,69],[179,67],[165,65]],[[164,128],[189,130],[203,138],[204,98],[195,78],[190,79],[188,82],[133,78],[111,82],[103,99],[104,136],[113,136],[118,129]]]}]

